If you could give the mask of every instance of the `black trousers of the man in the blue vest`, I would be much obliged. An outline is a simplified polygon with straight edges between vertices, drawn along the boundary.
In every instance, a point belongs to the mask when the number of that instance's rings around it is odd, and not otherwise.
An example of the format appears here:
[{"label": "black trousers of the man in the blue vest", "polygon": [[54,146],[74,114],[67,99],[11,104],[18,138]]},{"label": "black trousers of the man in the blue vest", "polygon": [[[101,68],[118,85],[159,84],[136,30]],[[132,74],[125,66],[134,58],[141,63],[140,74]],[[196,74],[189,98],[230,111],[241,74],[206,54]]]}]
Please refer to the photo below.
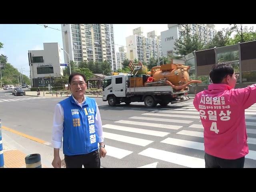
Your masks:
[{"label": "black trousers of the man in the blue vest", "polygon": [[64,156],[66,168],[100,168],[100,154],[98,150],[84,155]]}]

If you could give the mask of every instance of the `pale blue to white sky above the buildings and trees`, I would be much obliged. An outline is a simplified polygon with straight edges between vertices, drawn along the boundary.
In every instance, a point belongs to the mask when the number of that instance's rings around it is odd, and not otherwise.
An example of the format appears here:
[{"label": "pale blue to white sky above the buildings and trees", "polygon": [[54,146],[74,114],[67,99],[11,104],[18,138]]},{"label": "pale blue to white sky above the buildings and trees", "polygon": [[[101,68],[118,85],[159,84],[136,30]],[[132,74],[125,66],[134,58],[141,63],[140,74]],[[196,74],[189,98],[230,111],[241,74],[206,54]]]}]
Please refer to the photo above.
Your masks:
[{"label": "pale blue to white sky above the buildings and trees", "polygon": [[[61,24],[47,24],[49,27],[61,29]],[[222,30],[229,24],[215,24],[215,29]],[[254,26],[255,24],[244,24],[244,26]],[[167,24],[114,24],[115,51],[120,46],[126,46],[126,37],[132,35],[132,30],[143,27],[144,36],[147,32],[156,30],[157,35],[161,31],[168,30]],[[58,42],[62,48],[62,33],[59,30],[44,28],[37,24],[0,24],[0,42],[4,47],[0,49],[0,54],[8,57],[8,62],[15,68],[22,68],[23,74],[29,76],[28,50],[43,50],[43,43]],[[64,53],[62,52],[64,61]]]}]

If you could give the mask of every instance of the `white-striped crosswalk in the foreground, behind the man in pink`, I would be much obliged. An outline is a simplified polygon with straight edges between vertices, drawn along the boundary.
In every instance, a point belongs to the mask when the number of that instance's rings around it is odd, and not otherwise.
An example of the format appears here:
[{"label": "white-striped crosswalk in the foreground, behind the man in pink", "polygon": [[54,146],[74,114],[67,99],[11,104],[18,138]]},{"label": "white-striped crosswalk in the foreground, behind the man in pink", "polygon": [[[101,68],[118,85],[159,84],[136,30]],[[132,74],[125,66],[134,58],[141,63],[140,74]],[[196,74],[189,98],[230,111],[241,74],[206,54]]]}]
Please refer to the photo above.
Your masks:
[{"label": "white-striped crosswalk in the foreground, behind the man in pink", "polygon": [[[255,167],[256,104],[246,112],[247,142],[252,149],[246,155],[245,167]],[[204,168],[203,131],[193,102],[152,109],[103,125],[107,158],[112,167],[124,168],[142,167],[143,161],[165,167]]]}]

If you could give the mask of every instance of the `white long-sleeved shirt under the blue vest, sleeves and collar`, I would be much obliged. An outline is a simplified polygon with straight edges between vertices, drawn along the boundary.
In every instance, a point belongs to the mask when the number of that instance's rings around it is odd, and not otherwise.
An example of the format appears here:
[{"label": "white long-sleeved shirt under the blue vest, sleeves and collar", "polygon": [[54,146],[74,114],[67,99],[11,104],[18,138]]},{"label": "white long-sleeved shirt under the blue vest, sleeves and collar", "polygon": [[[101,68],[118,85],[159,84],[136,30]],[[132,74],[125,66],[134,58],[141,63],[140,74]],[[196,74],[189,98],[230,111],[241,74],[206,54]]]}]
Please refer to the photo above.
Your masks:
[{"label": "white long-sleeved shirt under the blue vest, sleeves and collar", "polygon": [[[72,96],[73,97],[73,96]],[[82,103],[79,103],[74,97],[74,101],[76,104],[78,104],[80,107],[84,104],[86,98],[84,96],[84,100]],[[95,128],[96,132],[98,133],[98,142],[101,143],[104,141],[104,138],[102,136],[102,122],[100,118],[100,111],[98,108],[98,105],[96,103],[96,116],[95,116]],[[53,116],[53,127],[52,127],[52,146],[53,148],[58,148],[60,149],[62,146],[62,136],[63,136],[63,122],[64,122],[64,111],[61,106],[61,104],[56,104],[55,106],[55,111],[54,111],[54,116]]]}]

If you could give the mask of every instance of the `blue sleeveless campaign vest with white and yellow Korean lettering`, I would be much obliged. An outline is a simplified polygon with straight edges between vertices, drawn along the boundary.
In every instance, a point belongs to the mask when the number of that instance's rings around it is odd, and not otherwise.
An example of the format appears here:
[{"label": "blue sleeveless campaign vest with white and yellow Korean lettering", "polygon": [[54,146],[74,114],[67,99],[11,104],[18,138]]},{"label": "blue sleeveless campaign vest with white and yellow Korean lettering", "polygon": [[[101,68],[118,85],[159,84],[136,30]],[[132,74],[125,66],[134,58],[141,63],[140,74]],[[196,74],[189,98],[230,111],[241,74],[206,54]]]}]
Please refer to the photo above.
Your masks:
[{"label": "blue sleeveless campaign vest with white and yellow Korean lettering", "polygon": [[95,128],[97,112],[95,100],[86,97],[82,108],[72,95],[59,102],[64,111],[63,153],[65,155],[88,154],[98,149],[98,133]]}]

